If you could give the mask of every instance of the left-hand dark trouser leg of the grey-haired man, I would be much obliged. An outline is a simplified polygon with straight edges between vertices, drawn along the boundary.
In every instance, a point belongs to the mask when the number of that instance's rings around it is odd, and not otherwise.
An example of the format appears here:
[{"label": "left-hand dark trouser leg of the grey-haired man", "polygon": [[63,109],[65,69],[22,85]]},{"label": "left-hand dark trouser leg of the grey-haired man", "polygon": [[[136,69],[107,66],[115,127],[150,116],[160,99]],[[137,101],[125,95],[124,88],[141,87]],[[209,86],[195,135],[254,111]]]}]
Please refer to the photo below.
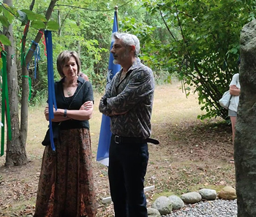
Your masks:
[{"label": "left-hand dark trouser leg of the grey-haired man", "polygon": [[127,194],[124,186],[124,170],[121,165],[121,149],[121,144],[116,144],[112,138],[109,151],[108,178],[115,217],[127,217]]}]

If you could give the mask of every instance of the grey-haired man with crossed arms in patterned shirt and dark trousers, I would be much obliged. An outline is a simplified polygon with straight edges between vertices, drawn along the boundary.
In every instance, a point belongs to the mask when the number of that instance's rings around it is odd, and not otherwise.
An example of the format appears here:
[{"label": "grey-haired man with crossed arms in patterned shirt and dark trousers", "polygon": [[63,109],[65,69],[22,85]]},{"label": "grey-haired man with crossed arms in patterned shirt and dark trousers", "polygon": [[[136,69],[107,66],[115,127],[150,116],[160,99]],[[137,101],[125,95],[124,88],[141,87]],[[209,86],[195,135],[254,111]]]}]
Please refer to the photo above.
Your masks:
[{"label": "grey-haired man with crossed arms in patterned shirt and dark trousers", "polygon": [[146,217],[143,183],[148,165],[147,142],[158,142],[149,138],[154,77],[152,70],[140,63],[138,37],[114,33],[113,39],[113,62],[122,68],[99,102],[99,111],[111,119],[110,194],[116,217]]}]

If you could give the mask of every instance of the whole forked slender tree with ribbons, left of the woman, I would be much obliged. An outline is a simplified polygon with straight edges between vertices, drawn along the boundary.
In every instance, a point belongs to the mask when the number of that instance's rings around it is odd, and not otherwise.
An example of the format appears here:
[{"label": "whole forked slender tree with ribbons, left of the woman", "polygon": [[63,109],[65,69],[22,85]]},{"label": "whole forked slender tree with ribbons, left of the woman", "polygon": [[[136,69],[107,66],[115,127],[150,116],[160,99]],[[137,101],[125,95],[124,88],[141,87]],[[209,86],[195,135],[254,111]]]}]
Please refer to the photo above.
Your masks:
[{"label": "whole forked slender tree with ribbons, left of the woman", "polygon": [[[46,12],[46,20],[50,19],[50,15],[53,12],[53,8],[56,1],[50,1],[48,10]],[[4,3],[12,7],[12,0],[4,0]],[[34,0],[31,1],[30,10],[34,7]],[[29,25],[24,31],[22,45],[26,44],[26,36],[29,31]],[[34,42],[38,43],[42,37],[44,29],[38,31]],[[4,34],[10,39],[11,45],[5,46],[5,50],[8,54],[14,54],[14,39],[12,32],[12,25],[8,28],[4,28]],[[7,82],[9,96],[12,101],[10,102],[10,116],[12,122],[12,140],[7,139],[7,154],[6,154],[6,166],[12,165],[23,165],[27,163],[26,156],[26,138],[28,134],[28,108],[29,108],[29,72],[26,68],[29,61],[34,54],[35,45],[31,45],[31,49],[26,54],[26,58],[22,65],[22,99],[21,99],[21,118],[19,122],[18,115],[18,76],[17,76],[17,65],[15,61],[12,61],[12,55],[7,55]],[[25,49],[24,49],[25,50]]]}]

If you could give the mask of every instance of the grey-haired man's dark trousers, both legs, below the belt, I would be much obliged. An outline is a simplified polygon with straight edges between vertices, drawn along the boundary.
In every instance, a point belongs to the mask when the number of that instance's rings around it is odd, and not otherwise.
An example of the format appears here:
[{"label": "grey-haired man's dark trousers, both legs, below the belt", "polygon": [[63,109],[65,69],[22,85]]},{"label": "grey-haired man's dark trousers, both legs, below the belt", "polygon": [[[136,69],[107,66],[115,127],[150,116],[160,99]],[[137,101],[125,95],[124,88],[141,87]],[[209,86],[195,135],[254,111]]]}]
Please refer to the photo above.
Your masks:
[{"label": "grey-haired man's dark trousers, both legs, below the belt", "polygon": [[144,177],[147,143],[116,143],[111,137],[108,178],[115,217],[147,217]]}]

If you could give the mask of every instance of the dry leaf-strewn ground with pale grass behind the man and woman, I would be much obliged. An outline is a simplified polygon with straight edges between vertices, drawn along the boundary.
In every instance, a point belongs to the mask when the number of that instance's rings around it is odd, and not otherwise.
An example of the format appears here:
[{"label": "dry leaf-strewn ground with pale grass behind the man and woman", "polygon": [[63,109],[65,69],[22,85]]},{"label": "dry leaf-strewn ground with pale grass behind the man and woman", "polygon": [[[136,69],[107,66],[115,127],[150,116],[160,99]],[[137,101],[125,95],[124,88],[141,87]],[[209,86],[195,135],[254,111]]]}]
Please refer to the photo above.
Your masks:
[{"label": "dry leaf-strewn ground with pale grass behind the man and woman", "polygon": [[[200,188],[222,189],[235,185],[231,142],[231,126],[219,119],[199,121],[203,114],[197,96],[188,99],[180,83],[157,86],[152,115],[152,136],[159,145],[149,145],[150,158],[145,186],[148,206],[161,195],[183,194]],[[102,115],[98,111],[100,96],[95,96],[94,117],[91,119],[91,140],[94,158],[94,178],[99,202],[97,216],[113,216],[112,203],[103,204],[109,197],[107,167],[96,162],[97,142]],[[0,158],[0,216],[32,216],[41,167],[43,146],[48,122],[44,106],[29,110],[27,140],[28,164],[22,167],[4,167]]]}]

